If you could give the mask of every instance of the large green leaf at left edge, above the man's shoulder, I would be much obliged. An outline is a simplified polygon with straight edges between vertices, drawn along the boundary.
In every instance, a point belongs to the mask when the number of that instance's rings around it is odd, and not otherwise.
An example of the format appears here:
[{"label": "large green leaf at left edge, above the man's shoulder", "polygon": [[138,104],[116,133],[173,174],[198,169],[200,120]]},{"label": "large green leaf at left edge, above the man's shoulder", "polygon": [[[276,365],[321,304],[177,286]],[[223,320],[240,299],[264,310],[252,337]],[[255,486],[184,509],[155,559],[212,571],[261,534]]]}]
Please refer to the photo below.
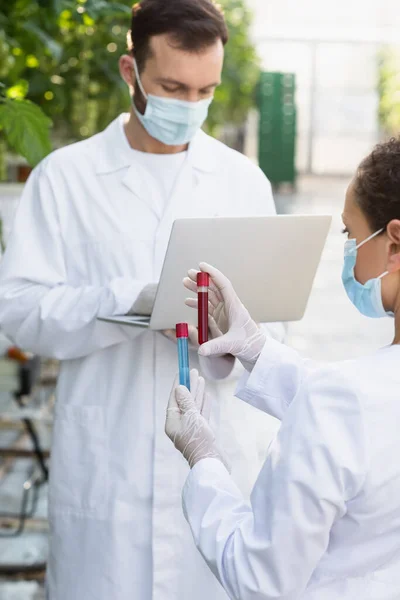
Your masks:
[{"label": "large green leaf at left edge, above the man's shoulder", "polygon": [[49,152],[51,121],[29,100],[6,99],[0,103],[0,127],[10,146],[37,165]]}]

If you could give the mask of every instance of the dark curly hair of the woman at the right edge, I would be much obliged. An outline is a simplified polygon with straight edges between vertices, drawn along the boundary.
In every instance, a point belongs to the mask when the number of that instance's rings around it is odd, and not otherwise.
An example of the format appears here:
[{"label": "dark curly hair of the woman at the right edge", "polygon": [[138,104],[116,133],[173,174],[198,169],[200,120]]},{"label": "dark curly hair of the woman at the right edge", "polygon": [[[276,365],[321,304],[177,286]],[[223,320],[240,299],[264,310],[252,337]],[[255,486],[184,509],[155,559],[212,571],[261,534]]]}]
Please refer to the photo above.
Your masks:
[{"label": "dark curly hair of the woman at the right edge", "polygon": [[400,138],[375,146],[358,168],[354,191],[372,231],[400,219]]}]

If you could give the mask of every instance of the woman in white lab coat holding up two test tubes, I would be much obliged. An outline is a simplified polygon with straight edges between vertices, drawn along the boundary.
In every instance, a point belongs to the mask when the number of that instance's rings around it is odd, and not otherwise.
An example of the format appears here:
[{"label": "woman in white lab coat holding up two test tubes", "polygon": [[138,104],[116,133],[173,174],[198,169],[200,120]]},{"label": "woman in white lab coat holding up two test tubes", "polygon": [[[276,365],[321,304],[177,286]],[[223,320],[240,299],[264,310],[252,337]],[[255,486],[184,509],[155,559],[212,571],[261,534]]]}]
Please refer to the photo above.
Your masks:
[{"label": "woman in white lab coat holding up two test tubes", "polygon": [[400,140],[363,160],[343,223],[350,300],[394,319],[393,343],[370,356],[323,367],[300,358],[265,336],[222,273],[201,265],[221,335],[200,354],[236,356],[247,370],[238,396],[282,421],[247,504],[204,416],[202,378],[193,372],[192,393],[176,385],[171,394],[166,431],[192,468],[185,515],[236,600],[400,598]]}]

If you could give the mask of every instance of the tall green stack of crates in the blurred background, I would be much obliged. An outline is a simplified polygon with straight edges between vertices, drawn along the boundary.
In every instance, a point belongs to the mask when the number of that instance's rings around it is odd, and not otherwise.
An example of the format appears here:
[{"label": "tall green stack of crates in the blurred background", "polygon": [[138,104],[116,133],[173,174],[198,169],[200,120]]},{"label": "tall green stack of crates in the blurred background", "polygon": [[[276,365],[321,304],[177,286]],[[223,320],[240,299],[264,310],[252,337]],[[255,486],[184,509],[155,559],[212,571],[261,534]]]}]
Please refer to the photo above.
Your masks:
[{"label": "tall green stack of crates in the blurred background", "polygon": [[273,185],[296,183],[296,80],[290,73],[262,73],[258,158]]}]

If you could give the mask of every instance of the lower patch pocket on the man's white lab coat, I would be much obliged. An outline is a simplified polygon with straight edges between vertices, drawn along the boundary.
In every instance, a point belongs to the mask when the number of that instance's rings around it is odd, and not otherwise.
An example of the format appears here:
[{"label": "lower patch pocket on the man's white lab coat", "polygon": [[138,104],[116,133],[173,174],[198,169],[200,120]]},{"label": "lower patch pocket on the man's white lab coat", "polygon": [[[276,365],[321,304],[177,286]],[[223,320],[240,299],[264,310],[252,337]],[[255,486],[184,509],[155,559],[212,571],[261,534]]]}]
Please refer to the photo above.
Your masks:
[{"label": "lower patch pocket on the man's white lab coat", "polygon": [[104,514],[109,490],[107,444],[101,406],[56,409],[49,492],[52,511]]}]

